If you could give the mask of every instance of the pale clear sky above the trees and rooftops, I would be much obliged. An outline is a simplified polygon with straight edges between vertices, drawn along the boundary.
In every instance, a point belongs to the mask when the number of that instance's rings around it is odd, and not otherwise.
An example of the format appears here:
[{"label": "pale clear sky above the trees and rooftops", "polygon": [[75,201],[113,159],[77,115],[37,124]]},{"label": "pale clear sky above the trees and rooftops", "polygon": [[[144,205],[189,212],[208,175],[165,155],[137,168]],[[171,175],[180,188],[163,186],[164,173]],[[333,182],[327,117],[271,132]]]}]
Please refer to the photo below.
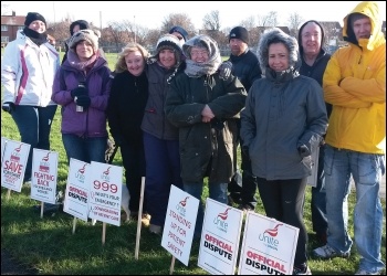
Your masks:
[{"label": "pale clear sky above the trees and rooftops", "polygon": [[[360,1],[1,1],[9,4],[17,15],[29,11],[41,13],[46,21],[84,19],[96,26],[106,26],[109,21],[129,20],[136,24],[158,29],[170,13],[186,13],[196,29],[202,26],[203,17],[219,10],[221,29],[238,25],[251,15],[264,15],[276,11],[281,25],[287,25],[291,13],[297,12],[304,20],[338,21]],[[383,20],[386,20],[386,1],[378,1]]]}]

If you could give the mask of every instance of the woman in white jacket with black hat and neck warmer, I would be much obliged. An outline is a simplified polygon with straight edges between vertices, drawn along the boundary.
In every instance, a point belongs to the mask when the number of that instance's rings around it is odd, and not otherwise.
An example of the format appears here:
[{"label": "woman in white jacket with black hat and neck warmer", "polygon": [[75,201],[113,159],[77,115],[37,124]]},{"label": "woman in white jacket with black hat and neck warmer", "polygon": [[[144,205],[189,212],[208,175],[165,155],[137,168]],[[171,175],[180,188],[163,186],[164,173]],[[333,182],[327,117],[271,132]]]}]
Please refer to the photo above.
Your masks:
[{"label": "woman in white jacket with black hat and neck warmer", "polygon": [[45,19],[29,12],[24,29],[8,43],[1,61],[2,109],[18,126],[21,141],[31,145],[24,182],[31,179],[33,148],[50,149],[56,104],[51,100],[59,53],[48,42]]}]

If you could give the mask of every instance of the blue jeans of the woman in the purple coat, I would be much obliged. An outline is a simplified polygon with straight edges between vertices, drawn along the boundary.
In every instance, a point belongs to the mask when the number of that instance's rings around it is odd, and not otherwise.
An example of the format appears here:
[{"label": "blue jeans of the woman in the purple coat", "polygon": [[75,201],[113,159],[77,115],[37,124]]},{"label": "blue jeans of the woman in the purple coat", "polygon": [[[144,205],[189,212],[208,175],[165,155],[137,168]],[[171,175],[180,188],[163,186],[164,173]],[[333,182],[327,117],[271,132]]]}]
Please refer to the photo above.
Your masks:
[{"label": "blue jeans of the woman in the purple coat", "polygon": [[107,137],[80,137],[77,135],[62,134],[64,149],[70,162],[71,158],[83,162],[105,162]]}]

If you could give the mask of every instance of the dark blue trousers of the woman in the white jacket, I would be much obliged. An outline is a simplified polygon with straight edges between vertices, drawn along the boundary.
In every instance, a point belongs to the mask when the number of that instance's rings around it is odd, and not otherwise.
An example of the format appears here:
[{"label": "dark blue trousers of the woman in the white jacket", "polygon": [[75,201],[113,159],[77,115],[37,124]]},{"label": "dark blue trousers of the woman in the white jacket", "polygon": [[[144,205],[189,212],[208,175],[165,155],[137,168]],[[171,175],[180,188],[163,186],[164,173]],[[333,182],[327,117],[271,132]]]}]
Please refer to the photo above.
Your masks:
[{"label": "dark blue trousers of the woman in the white jacket", "polygon": [[52,119],[56,113],[56,105],[35,107],[17,105],[12,118],[18,126],[22,142],[31,145],[27,161],[24,181],[31,179],[33,149],[50,150],[50,132]]}]

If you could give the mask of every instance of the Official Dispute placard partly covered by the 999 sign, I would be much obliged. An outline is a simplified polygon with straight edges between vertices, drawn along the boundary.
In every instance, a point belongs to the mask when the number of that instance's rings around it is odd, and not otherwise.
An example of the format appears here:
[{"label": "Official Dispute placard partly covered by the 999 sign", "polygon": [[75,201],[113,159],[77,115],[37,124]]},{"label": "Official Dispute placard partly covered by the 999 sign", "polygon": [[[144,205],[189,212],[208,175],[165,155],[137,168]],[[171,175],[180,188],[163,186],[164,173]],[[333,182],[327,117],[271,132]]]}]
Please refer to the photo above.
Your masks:
[{"label": "Official Dispute placard partly covered by the 999 sign", "polygon": [[90,163],[74,158],[70,159],[66,193],[63,202],[63,212],[85,222],[87,222],[88,215],[87,197],[90,183],[86,179]]}]

